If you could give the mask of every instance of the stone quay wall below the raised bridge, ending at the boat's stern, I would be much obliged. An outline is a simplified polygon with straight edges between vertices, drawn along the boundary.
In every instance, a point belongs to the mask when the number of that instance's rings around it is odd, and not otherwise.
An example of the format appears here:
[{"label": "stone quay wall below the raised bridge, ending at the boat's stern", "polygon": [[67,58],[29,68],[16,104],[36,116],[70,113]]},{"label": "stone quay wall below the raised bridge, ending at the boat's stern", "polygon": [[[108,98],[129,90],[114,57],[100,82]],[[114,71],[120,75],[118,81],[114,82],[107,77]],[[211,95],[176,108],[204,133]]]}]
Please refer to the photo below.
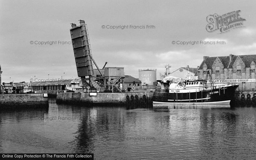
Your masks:
[{"label": "stone quay wall below the raised bridge, ending at the boat's stern", "polygon": [[[153,92],[97,93],[58,92],[57,103],[152,105]],[[94,93],[96,94],[96,93]]]}]

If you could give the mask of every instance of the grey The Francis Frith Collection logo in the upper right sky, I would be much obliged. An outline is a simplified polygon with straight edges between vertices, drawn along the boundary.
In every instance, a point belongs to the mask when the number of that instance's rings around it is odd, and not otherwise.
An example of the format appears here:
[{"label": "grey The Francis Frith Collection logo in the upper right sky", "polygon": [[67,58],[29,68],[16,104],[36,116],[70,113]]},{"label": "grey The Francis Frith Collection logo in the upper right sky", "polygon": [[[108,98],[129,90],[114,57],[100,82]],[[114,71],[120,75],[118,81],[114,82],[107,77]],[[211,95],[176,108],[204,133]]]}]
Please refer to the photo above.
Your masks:
[{"label": "grey The Francis Frith Collection logo in the upper right sky", "polygon": [[240,10],[228,12],[223,15],[208,15],[206,30],[208,32],[219,31],[219,34],[226,33],[235,28],[244,27],[244,18],[240,16]]}]

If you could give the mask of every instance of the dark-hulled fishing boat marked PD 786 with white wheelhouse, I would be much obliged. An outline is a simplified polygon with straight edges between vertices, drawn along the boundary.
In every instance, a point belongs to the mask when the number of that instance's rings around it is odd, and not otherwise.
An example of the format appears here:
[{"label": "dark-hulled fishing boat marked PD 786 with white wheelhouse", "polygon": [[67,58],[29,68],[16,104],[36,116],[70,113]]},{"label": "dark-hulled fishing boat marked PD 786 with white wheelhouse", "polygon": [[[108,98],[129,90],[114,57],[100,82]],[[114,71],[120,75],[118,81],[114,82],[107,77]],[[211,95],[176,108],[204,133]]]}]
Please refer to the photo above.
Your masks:
[{"label": "dark-hulled fishing boat marked PD 786 with white wheelhouse", "polygon": [[[207,70],[204,80],[183,80],[166,76],[161,81],[161,89],[155,89],[154,105],[203,104],[229,105],[238,87],[237,84],[214,84]],[[209,78],[209,79],[208,79]]]}]

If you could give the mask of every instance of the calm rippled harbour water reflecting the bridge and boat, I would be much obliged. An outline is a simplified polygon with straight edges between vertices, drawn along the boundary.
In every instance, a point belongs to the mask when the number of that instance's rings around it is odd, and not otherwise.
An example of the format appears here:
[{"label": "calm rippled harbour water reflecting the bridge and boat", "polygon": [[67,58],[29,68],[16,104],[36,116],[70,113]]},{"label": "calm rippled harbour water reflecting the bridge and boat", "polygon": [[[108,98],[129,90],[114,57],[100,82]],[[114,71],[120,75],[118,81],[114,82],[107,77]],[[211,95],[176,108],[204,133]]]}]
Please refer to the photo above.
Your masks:
[{"label": "calm rippled harbour water reflecting the bridge and boat", "polygon": [[0,111],[1,153],[94,159],[255,159],[256,107],[153,109],[56,104]]}]

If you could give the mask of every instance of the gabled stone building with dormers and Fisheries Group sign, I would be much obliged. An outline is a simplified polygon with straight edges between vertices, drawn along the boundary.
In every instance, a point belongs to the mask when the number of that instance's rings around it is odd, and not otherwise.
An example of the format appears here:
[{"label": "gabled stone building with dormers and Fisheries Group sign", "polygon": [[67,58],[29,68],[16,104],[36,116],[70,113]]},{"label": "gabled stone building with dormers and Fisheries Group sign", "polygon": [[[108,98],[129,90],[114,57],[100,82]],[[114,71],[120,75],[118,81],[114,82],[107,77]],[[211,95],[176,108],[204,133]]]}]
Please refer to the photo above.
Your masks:
[{"label": "gabled stone building with dormers and Fisheries Group sign", "polygon": [[214,83],[237,83],[242,91],[255,91],[256,54],[203,57],[195,76],[205,79],[207,69]]}]

